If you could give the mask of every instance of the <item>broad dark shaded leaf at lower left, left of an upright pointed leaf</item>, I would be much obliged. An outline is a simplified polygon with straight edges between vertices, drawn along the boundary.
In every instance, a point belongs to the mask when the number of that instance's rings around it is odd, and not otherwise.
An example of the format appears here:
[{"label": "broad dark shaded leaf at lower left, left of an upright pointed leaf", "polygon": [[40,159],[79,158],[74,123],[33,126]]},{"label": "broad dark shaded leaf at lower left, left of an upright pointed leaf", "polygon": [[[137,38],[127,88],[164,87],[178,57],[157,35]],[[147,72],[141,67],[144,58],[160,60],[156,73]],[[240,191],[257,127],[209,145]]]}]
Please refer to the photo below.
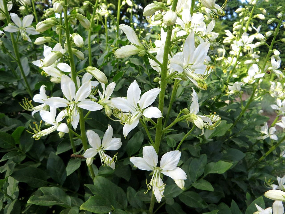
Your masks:
[{"label": "broad dark shaded leaf at lower left, left of an upright pointed leaf", "polygon": [[46,185],[46,180],[49,178],[45,171],[34,167],[19,169],[14,171],[11,176],[17,181],[25,182],[34,188]]}]

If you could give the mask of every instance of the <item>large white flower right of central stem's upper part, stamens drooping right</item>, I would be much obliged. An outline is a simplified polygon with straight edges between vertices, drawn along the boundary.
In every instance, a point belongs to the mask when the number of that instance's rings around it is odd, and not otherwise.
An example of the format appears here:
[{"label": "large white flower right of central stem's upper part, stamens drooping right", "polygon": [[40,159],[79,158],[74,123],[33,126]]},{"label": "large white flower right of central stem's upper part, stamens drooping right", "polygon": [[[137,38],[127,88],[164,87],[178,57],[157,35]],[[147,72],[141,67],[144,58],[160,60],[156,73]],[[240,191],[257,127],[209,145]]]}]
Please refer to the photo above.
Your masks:
[{"label": "large white flower right of central stem's upper part, stamens drooping right", "polygon": [[195,47],[194,32],[192,31],[186,38],[183,52],[175,54],[170,60],[170,69],[178,72],[183,72],[195,86],[200,89],[206,90],[206,84],[203,78],[200,78],[197,74],[207,75],[209,70],[204,64],[210,47],[209,42],[204,42]]}]

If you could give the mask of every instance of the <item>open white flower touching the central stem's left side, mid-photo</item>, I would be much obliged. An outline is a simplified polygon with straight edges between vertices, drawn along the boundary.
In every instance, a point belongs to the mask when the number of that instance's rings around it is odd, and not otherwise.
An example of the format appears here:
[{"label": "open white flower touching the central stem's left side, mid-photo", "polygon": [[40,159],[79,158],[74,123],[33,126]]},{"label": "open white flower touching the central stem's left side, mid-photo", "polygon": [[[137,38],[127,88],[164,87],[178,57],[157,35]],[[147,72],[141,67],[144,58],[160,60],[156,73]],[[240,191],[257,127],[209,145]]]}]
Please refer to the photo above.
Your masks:
[{"label": "open white flower touching the central stem's left side, mid-photo", "polygon": [[[121,123],[124,124],[123,134],[125,138],[129,132],[138,125],[141,116],[145,116],[146,118],[162,117],[162,114],[157,107],[148,107],[154,102],[159,92],[160,88],[154,88],[145,92],[141,96],[141,89],[135,80],[128,88],[127,97],[111,98],[114,106],[117,109],[122,112],[128,112],[117,114],[117,117],[121,120]],[[144,108],[146,109],[143,110]]]}]

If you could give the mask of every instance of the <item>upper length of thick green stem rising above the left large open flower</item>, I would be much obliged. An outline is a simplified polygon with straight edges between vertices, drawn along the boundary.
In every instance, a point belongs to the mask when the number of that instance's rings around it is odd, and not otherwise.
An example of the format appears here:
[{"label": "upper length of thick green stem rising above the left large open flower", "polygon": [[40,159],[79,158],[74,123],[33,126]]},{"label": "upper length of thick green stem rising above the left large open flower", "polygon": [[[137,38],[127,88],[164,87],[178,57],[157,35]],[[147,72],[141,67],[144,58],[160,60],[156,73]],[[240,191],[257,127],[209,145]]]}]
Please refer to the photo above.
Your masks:
[{"label": "upper length of thick green stem rising above the left large open flower", "polygon": [[67,45],[67,51],[69,56],[69,62],[71,67],[71,78],[75,84],[76,91],[78,90],[78,85],[76,81],[76,71],[75,71],[75,64],[73,59],[73,53],[72,53],[72,47],[70,43],[70,31],[69,31],[69,25],[68,25],[68,5],[67,0],[64,0],[65,6],[64,6],[64,25],[65,25],[65,33],[66,33],[66,45]]}]

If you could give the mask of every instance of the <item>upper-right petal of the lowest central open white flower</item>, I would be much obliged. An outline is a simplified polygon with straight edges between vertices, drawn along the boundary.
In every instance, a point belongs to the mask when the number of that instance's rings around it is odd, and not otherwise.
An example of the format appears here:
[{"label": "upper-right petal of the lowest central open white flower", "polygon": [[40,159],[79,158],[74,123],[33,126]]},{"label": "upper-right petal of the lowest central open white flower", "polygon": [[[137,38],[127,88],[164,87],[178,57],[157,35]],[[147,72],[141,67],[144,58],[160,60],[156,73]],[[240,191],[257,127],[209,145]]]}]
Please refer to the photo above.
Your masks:
[{"label": "upper-right petal of the lowest central open white flower", "polygon": [[172,170],[174,169],[179,160],[181,152],[178,150],[166,152],[160,160],[160,168],[163,170]]}]

